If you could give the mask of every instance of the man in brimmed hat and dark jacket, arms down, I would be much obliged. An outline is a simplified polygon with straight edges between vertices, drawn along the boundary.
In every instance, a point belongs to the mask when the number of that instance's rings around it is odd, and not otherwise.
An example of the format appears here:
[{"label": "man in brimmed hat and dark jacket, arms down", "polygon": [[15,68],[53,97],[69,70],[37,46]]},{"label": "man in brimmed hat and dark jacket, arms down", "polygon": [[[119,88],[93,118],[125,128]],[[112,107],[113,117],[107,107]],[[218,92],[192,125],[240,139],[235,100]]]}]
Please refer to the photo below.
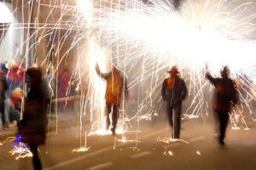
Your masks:
[{"label": "man in brimmed hat and dark jacket, arms down", "polygon": [[168,121],[172,127],[172,139],[179,139],[182,101],[187,96],[187,87],[182,78],[178,77],[177,66],[168,71],[170,77],[162,84],[162,98],[166,101]]}]

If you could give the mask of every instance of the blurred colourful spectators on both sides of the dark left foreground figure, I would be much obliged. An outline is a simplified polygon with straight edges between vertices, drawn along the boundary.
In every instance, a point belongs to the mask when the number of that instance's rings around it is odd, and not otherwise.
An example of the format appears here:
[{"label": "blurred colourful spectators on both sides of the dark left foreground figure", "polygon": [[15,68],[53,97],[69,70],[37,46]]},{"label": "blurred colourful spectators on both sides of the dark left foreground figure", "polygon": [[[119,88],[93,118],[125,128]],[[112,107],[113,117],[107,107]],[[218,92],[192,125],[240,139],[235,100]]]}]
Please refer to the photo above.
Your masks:
[{"label": "blurred colourful spectators on both sides of the dark left foreground figure", "polygon": [[[58,77],[52,77],[48,69],[44,75],[44,80],[49,83],[51,94],[55,98],[65,98],[68,95],[74,95],[75,90],[70,85],[71,73],[66,68],[58,74]],[[56,79],[57,78],[57,79]],[[16,127],[20,121],[21,102],[25,97],[26,71],[17,64],[15,60],[2,62],[0,64],[0,128],[7,129]],[[57,87],[57,88],[56,88]],[[55,110],[55,105],[51,105]],[[58,111],[72,111],[73,101],[57,102]]]}]

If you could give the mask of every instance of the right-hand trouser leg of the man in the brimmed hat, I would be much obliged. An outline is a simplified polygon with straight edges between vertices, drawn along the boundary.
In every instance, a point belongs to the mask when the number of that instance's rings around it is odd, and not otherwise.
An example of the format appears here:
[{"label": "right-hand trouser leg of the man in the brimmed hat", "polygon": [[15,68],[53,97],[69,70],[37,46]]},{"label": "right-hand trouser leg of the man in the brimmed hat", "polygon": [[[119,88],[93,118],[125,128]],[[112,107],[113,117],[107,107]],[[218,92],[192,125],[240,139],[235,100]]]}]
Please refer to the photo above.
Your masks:
[{"label": "right-hand trouser leg of the man in the brimmed hat", "polygon": [[173,113],[173,131],[174,131],[174,139],[179,139],[180,134],[180,116],[181,116],[181,108],[182,105],[178,104],[175,106],[174,113]]}]

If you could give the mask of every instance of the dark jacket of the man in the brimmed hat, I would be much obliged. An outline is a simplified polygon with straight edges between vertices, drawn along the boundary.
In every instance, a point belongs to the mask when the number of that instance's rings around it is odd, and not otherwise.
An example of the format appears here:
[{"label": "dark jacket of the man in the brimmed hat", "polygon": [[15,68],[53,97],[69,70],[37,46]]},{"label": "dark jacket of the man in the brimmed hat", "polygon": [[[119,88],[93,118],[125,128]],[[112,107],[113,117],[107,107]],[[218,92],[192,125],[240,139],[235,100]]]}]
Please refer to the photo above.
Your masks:
[{"label": "dark jacket of the man in the brimmed hat", "polygon": [[168,87],[168,77],[162,84],[162,98],[167,101],[169,106],[180,104],[187,96],[187,87],[183,79],[174,77],[173,86]]}]

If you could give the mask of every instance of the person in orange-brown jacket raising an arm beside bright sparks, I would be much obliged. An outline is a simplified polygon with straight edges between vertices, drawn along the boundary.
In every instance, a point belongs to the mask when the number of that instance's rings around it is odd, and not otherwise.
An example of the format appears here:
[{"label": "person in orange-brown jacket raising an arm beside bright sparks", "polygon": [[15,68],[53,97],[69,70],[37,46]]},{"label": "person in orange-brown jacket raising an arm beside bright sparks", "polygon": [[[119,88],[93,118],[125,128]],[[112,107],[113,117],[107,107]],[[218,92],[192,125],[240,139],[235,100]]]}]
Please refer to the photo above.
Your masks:
[{"label": "person in orange-brown jacket raising an arm beside bright sparks", "polygon": [[128,89],[126,85],[126,80],[119,72],[118,68],[113,66],[112,71],[108,73],[102,73],[100,71],[99,65],[96,64],[97,74],[107,81],[106,88],[106,110],[107,110],[107,129],[110,125],[109,115],[112,113],[112,134],[115,135],[115,130],[118,122],[119,107],[121,105],[122,96],[125,94],[125,98],[128,96]]}]

